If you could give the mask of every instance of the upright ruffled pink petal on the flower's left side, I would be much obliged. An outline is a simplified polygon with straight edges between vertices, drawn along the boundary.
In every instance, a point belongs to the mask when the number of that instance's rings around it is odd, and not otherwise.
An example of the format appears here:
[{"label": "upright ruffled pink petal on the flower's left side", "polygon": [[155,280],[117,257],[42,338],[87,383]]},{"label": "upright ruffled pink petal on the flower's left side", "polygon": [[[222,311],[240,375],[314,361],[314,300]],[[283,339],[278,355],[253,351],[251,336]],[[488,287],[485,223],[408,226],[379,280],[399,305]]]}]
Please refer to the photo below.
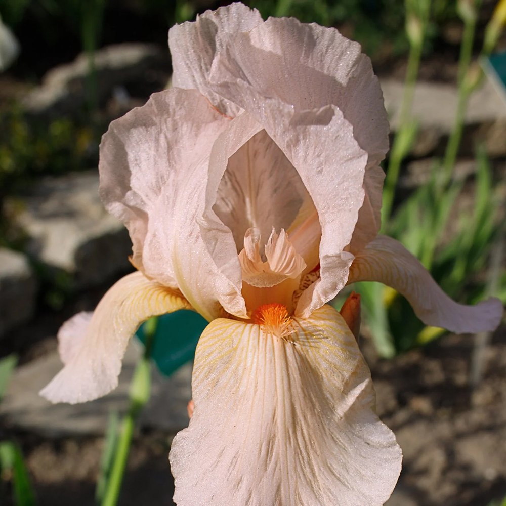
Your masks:
[{"label": "upright ruffled pink petal on the flower's left side", "polygon": [[222,273],[199,225],[214,174],[209,157],[230,123],[198,92],[167,90],[113,121],[100,151],[101,196],[129,228],[134,264],[179,288],[208,319],[221,314],[220,306],[240,312],[244,304],[237,258],[235,278]]}]

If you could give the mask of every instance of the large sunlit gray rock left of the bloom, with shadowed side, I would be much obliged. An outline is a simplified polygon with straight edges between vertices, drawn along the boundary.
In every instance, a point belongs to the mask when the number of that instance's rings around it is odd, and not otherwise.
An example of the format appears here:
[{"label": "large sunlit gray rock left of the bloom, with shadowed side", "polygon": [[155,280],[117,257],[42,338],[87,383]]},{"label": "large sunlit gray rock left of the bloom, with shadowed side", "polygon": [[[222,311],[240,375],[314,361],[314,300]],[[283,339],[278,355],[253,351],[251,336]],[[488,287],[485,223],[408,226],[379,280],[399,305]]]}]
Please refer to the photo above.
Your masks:
[{"label": "large sunlit gray rock left of the bloom, with shadowed side", "polygon": [[97,171],[45,178],[12,205],[21,208],[12,219],[28,236],[29,254],[55,275],[69,275],[75,288],[131,269],[128,232],[104,209],[98,185]]}]

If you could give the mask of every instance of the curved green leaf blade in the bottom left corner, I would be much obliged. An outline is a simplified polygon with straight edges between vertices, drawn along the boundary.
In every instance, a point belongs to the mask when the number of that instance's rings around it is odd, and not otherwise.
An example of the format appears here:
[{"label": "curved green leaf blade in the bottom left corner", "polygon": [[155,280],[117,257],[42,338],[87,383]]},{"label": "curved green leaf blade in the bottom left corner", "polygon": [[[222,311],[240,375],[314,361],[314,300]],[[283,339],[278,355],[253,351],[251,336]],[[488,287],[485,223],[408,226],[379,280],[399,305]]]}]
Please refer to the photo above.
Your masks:
[{"label": "curved green leaf blade in the bottom left corner", "polygon": [[33,492],[23,455],[19,447],[12,441],[0,443],[0,468],[2,474],[11,473],[13,482],[13,498],[16,506],[33,506]]}]

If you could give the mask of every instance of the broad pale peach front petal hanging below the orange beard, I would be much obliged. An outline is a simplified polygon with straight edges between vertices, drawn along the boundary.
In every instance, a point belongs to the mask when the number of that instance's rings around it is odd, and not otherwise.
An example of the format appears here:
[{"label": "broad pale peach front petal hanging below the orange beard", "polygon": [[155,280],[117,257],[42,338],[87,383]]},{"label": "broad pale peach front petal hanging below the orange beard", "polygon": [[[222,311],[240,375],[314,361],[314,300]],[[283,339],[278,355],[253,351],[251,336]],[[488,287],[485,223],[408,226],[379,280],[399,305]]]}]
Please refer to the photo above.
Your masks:
[{"label": "broad pale peach front petal hanging below the orange beard", "polygon": [[383,504],[401,451],[374,413],[355,338],[334,309],[284,338],[218,319],[193,370],[195,409],[172,444],[178,506]]}]

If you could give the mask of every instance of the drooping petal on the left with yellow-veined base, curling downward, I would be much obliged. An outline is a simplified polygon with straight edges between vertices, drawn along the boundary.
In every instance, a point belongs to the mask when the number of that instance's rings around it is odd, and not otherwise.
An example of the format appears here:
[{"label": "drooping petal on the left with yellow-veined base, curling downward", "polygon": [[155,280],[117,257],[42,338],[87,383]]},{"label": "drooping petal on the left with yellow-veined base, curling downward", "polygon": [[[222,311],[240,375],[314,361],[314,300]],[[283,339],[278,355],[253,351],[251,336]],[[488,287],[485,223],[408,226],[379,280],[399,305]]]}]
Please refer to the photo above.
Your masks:
[{"label": "drooping petal on the left with yellow-veined base, curling downward", "polygon": [[[75,316],[60,338],[63,369],[40,394],[52,402],[86,402],[116,388],[121,359],[138,326],[151,316],[191,309],[178,292],[135,272],[120,279],[102,298],[93,316]],[[71,345],[70,332],[76,344]]]}]

